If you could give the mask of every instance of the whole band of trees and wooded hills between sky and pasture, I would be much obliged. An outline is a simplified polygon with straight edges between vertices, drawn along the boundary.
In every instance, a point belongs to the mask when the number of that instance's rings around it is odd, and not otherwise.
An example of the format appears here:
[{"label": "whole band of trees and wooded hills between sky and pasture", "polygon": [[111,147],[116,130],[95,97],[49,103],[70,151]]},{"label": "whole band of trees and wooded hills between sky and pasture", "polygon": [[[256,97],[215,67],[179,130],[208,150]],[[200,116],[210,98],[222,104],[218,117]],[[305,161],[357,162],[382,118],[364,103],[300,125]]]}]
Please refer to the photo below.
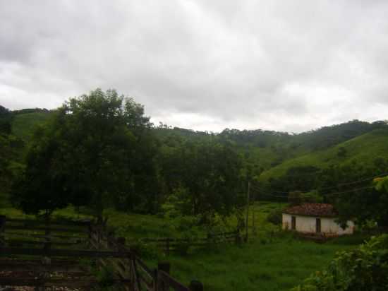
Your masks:
[{"label": "whole band of trees and wooded hills between sky and pasture", "polygon": [[344,220],[388,225],[387,196],[370,186],[388,172],[387,121],[209,133],[154,125],[143,105],[97,89],[55,110],[0,107],[0,150],[1,195],[26,213],[168,208],[207,223],[241,211],[250,182],[258,200],[336,203]]}]

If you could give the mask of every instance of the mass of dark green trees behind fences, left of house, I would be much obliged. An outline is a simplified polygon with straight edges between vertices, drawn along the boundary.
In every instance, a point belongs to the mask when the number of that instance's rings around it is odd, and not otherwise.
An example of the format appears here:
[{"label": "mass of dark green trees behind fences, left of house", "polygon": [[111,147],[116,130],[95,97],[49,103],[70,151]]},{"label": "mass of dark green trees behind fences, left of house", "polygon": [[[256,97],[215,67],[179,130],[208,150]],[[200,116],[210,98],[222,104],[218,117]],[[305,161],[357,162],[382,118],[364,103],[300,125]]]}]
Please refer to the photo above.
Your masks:
[{"label": "mass of dark green trees behind fences, left of house", "polygon": [[239,208],[238,153],[208,133],[163,130],[115,90],[71,98],[28,143],[11,202],[37,215],[87,206],[100,219],[106,207],[157,213],[169,204],[204,223]]}]

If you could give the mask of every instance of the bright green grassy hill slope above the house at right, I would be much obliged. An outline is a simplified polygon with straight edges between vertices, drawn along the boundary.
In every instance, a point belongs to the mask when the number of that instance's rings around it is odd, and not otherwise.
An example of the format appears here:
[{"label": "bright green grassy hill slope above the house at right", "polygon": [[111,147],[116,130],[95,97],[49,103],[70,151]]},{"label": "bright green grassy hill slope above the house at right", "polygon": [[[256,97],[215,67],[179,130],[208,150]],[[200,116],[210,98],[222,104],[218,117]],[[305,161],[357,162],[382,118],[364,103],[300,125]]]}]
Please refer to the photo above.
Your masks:
[{"label": "bright green grassy hill slope above the house at right", "polygon": [[323,169],[330,165],[344,166],[354,162],[368,166],[377,158],[388,160],[388,129],[375,129],[325,150],[286,160],[262,172],[260,181],[267,182],[270,178],[279,178],[291,167],[313,166]]}]

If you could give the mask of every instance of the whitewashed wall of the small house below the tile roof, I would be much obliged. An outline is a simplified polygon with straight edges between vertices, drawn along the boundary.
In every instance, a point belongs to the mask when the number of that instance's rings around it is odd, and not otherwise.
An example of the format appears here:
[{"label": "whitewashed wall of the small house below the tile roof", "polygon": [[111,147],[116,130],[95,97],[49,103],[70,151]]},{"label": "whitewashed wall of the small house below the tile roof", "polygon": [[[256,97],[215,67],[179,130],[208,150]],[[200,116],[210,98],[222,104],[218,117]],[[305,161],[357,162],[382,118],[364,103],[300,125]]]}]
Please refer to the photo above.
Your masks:
[{"label": "whitewashed wall of the small house below the tile roof", "polygon": [[[284,230],[291,230],[291,217],[295,216],[296,218],[296,231],[298,232],[316,232],[315,225],[316,225],[316,218],[315,216],[302,216],[302,215],[291,215],[283,213],[283,229]],[[321,232],[325,234],[352,234],[354,230],[354,223],[352,221],[348,221],[345,230],[341,228],[335,222],[335,218],[320,218],[321,219]]]}]

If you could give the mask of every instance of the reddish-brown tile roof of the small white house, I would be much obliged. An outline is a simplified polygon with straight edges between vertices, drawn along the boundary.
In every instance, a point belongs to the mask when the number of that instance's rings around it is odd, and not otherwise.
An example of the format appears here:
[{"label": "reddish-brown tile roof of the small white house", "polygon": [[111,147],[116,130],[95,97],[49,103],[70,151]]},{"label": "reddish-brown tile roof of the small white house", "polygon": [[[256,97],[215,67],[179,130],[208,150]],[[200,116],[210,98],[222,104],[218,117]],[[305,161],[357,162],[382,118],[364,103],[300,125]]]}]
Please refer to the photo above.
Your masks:
[{"label": "reddish-brown tile roof of the small white house", "polygon": [[283,213],[294,215],[336,217],[337,211],[332,204],[326,203],[303,203],[298,206],[291,206],[283,210]]}]

